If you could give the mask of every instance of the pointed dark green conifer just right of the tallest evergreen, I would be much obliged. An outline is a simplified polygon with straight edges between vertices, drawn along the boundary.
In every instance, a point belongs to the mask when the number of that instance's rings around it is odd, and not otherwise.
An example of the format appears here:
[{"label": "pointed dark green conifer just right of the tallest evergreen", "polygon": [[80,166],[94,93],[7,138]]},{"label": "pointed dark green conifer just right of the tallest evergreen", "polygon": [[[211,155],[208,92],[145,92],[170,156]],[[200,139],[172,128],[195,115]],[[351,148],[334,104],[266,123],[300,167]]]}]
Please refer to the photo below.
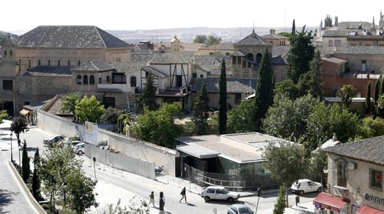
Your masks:
[{"label": "pointed dark green conifer just right of the tallest evergreen", "polygon": [[302,74],[297,83],[300,95],[310,93],[314,98],[323,97],[323,80],[321,78],[321,57],[320,51],[317,50],[310,63],[310,70]]}]

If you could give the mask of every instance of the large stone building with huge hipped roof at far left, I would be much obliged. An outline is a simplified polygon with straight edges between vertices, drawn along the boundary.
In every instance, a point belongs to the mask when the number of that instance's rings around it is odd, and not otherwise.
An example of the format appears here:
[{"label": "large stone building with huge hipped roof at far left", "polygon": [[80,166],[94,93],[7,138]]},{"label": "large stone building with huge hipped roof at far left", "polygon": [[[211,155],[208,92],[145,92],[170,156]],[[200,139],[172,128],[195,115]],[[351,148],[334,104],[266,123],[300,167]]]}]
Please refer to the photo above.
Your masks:
[{"label": "large stone building with huge hipped roof at far left", "polygon": [[27,103],[73,91],[70,67],[131,60],[129,44],[96,26],[38,26],[0,46],[0,95],[10,115]]}]

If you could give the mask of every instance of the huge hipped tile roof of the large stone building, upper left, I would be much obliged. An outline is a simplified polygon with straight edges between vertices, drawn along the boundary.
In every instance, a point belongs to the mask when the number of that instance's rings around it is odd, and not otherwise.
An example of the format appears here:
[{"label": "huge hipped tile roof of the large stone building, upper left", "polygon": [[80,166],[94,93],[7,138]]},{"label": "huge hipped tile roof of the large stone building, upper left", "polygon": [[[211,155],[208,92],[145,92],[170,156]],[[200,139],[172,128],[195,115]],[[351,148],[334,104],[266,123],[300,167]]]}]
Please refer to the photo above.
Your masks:
[{"label": "huge hipped tile roof of the large stone building, upper left", "polygon": [[121,48],[131,47],[96,26],[38,26],[15,40],[18,47]]}]

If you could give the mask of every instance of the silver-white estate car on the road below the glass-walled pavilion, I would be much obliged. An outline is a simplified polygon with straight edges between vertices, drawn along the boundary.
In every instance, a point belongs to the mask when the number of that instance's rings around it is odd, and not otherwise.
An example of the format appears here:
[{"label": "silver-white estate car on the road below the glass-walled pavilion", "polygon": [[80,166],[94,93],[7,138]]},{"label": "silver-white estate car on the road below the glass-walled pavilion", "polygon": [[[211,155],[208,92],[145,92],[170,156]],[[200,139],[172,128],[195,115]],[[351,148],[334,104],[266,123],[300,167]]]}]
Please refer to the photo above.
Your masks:
[{"label": "silver-white estate car on the road below the glass-walled pavilion", "polygon": [[209,186],[204,189],[201,193],[201,197],[204,198],[205,202],[209,200],[227,200],[232,203],[234,200],[240,198],[240,195],[229,191],[223,186]]}]

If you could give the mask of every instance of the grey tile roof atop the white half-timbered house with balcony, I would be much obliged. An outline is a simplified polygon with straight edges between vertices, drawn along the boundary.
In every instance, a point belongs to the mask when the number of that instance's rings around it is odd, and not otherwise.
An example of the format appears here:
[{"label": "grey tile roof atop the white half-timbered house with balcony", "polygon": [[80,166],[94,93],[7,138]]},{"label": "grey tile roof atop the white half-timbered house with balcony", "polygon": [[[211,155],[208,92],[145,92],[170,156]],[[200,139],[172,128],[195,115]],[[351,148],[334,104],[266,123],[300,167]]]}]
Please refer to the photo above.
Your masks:
[{"label": "grey tile roof atop the white half-timbered house with balcony", "polygon": [[153,56],[150,64],[188,64],[192,54],[158,53]]}]

